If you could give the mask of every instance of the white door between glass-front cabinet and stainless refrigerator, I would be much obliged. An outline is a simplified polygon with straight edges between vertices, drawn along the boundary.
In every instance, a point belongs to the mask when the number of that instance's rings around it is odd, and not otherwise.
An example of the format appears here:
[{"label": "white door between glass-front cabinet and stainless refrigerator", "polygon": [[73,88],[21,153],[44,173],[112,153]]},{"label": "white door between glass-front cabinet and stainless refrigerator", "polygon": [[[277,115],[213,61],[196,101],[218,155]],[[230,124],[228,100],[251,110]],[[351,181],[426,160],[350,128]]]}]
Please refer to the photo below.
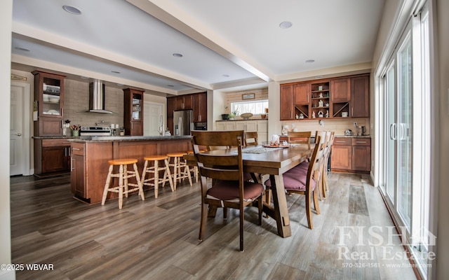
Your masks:
[{"label": "white door between glass-front cabinet and stainless refrigerator", "polygon": [[146,102],[143,109],[143,134],[145,136],[159,136],[159,127],[167,127],[165,123],[164,104]]}]

